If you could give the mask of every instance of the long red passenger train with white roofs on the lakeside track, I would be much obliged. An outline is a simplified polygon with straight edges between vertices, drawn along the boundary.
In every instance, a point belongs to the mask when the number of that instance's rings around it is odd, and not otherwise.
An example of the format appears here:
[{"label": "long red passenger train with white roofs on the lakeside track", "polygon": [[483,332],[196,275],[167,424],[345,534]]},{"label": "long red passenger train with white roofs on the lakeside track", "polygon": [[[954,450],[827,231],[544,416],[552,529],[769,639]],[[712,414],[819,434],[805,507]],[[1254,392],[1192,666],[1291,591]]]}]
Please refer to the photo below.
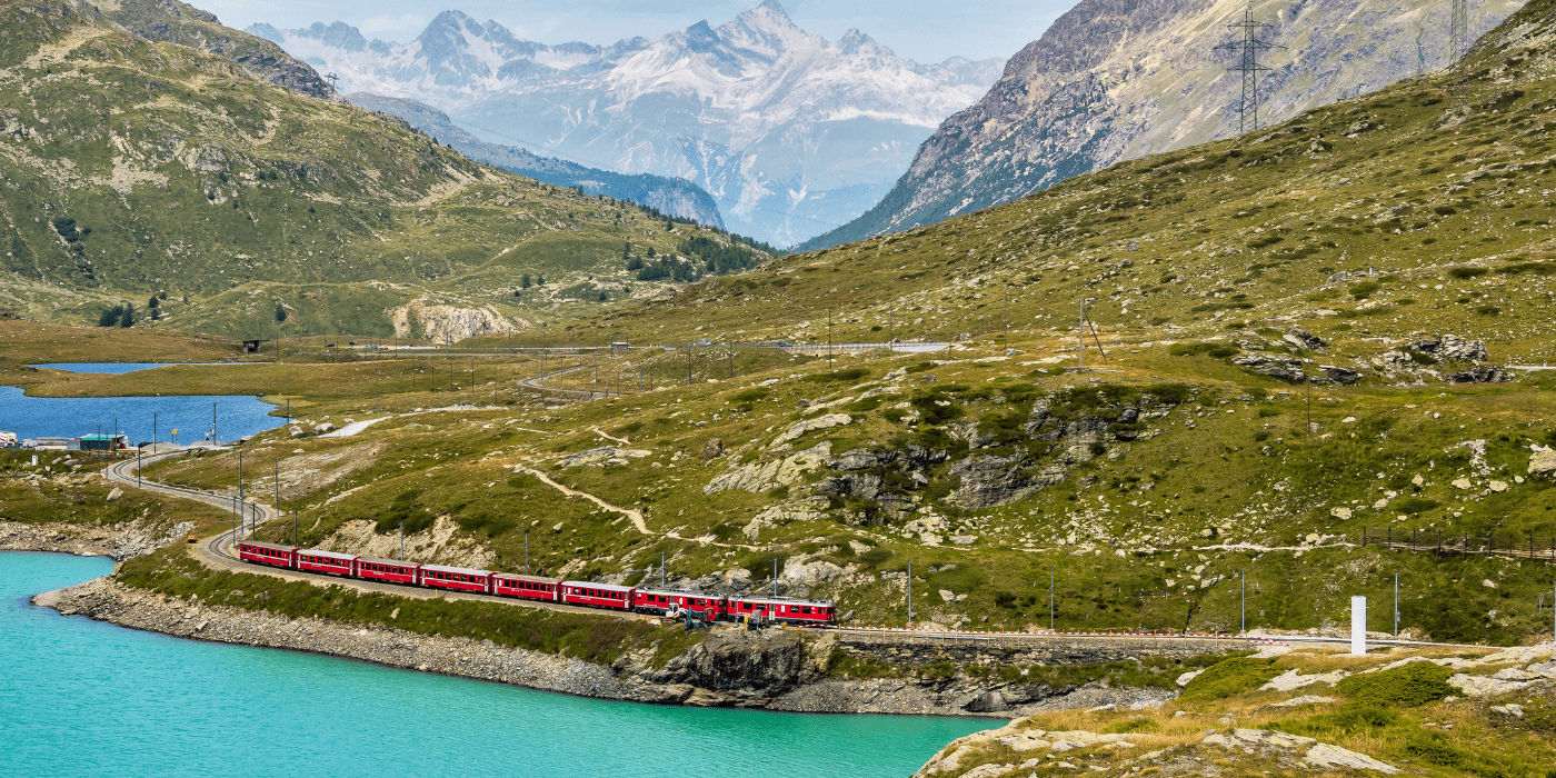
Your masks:
[{"label": "long red passenger train with white roofs on the lakeside track", "polygon": [[238,559],[255,565],[327,573],[361,580],[384,580],[409,587],[471,591],[543,602],[568,602],[573,605],[629,610],[635,613],[669,616],[689,612],[706,621],[739,621],[752,616],[786,624],[837,624],[837,610],[832,604],[817,599],[728,596],[647,587],[621,587],[587,580],[562,580],[540,576],[518,576],[513,573],[493,573],[490,569],[422,565],[397,559],[355,557],[336,551],[282,546],[258,540],[240,541]]}]

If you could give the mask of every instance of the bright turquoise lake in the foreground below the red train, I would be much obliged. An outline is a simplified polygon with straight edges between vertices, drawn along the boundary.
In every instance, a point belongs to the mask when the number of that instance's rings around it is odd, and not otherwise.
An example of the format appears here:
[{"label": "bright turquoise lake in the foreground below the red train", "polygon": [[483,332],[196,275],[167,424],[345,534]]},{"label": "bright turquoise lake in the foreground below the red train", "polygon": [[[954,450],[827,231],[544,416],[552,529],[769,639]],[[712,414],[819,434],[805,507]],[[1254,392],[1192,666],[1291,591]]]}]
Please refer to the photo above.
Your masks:
[{"label": "bright turquoise lake in the foreground below the red train", "polygon": [[0,772],[50,776],[907,776],[987,720],[590,700],[187,641],[28,598],[106,559],[0,552]]}]

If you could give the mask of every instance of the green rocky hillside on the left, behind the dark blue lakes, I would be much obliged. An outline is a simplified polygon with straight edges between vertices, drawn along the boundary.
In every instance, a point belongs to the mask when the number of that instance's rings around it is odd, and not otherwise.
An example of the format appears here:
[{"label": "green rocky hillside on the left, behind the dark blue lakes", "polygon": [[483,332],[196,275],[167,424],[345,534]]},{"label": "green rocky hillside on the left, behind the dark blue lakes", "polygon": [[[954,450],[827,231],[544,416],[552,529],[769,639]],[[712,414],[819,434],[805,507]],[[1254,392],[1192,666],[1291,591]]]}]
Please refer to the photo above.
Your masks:
[{"label": "green rocky hillside on the left, behind the dark blue lakes", "polygon": [[[728,243],[473,163],[90,6],[11,3],[0,40],[0,302],[28,317],[95,322],[128,300],[151,325],[156,294],[187,330],[383,336],[386,308],[426,299],[527,328],[663,288],[626,269],[629,244]],[[524,274],[545,285],[523,291]]]}]

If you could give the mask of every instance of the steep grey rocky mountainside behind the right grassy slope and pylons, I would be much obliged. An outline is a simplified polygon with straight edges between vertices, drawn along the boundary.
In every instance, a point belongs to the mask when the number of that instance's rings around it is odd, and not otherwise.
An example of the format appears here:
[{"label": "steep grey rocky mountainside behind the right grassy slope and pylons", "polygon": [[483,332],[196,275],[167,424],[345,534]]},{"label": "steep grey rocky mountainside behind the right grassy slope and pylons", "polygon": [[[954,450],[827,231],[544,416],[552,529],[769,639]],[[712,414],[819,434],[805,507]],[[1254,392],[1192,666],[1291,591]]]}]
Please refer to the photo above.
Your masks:
[{"label": "steep grey rocky mountainside behind the right grassy slope and pylons", "polygon": [[[1475,8],[1474,34],[1519,2]],[[1119,160],[1235,134],[1240,79],[1228,70],[1232,0],[1085,0],[1013,56],[1001,81],[949,117],[865,215],[800,251],[930,224],[1030,194]],[[1402,0],[1257,2],[1260,118],[1277,123],[1446,64],[1447,8]],[[1323,31],[1323,33],[1319,33]],[[1421,50],[1418,51],[1418,44]]]}]

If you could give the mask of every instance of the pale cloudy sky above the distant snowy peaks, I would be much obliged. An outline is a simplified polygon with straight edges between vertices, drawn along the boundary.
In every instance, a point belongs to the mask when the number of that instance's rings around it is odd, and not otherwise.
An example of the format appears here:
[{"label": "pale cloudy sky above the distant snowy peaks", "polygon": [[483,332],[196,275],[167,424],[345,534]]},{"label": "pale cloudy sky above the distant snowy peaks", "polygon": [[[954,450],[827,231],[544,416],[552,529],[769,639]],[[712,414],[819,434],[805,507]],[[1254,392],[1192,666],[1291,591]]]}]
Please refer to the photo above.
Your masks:
[{"label": "pale cloudy sky above the distant snowy peaks", "polygon": [[[1077,0],[781,0],[797,25],[829,40],[848,28],[916,62],[951,56],[1010,58],[1036,40]],[[496,20],[541,44],[613,44],[657,37],[699,20],[713,26],[761,0],[191,0],[227,26],[277,28],[345,22],[369,39],[406,42],[440,11]]]}]

